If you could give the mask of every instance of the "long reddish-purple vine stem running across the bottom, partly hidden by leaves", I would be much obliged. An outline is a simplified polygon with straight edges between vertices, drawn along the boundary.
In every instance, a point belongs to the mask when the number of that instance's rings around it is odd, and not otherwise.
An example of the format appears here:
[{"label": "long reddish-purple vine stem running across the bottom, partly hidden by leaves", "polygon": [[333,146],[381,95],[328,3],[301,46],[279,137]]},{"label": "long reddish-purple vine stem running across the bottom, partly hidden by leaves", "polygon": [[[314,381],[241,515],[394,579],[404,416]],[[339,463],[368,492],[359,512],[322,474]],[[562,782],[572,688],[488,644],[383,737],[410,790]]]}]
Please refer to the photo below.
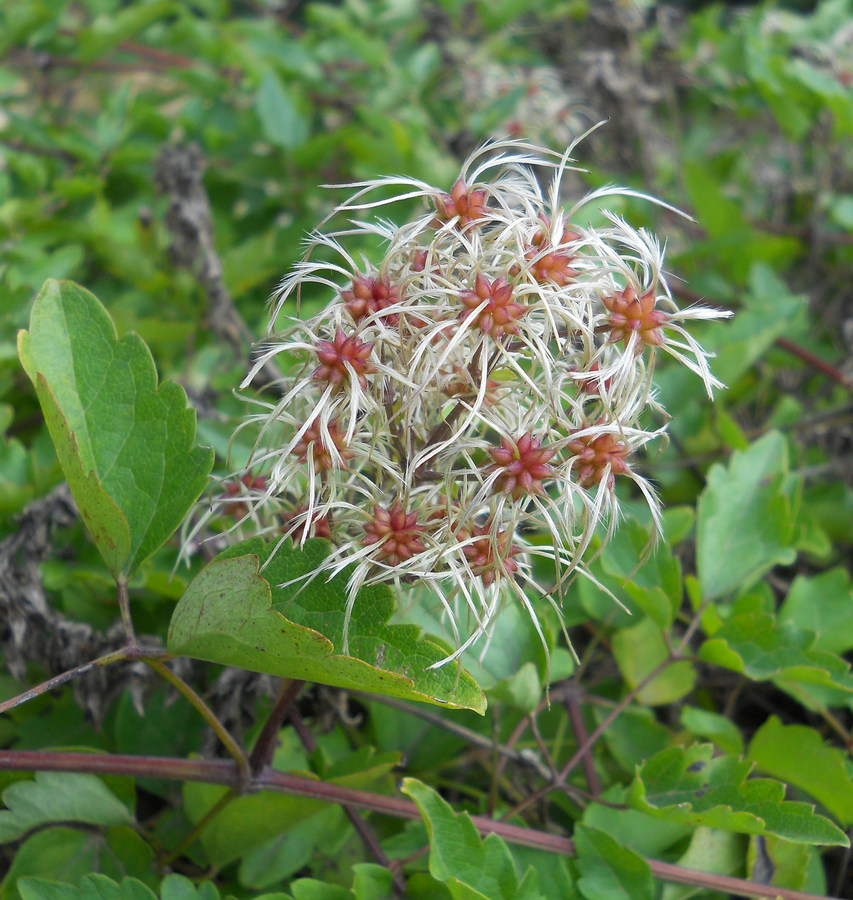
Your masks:
[{"label": "long reddish-purple vine stem running across the bottom, partly hidden by leaves", "polygon": [[[0,750],[0,770],[36,772],[84,772],[95,775],[130,775],[132,777],[166,778],[175,781],[202,781],[239,788],[243,784],[240,768],[230,760],[177,759],[158,756],[127,756],[107,753],[71,753],[63,751]],[[348,804],[383,815],[420,820],[418,808],[410,800],[373,794],[357,788],[328,784],[266,768],[251,780],[255,790],[277,791],[328,803]],[[533,847],[564,856],[574,856],[575,846],[570,838],[548,834],[513,825],[485,816],[471,816],[480,834],[497,834],[512,844]],[[807,894],[790,888],[757,884],[728,875],[712,875],[696,869],[686,869],[673,863],[647,859],[655,878],[675,884],[689,884],[739,897],[767,897],[770,900],[840,900],[840,898]]]}]

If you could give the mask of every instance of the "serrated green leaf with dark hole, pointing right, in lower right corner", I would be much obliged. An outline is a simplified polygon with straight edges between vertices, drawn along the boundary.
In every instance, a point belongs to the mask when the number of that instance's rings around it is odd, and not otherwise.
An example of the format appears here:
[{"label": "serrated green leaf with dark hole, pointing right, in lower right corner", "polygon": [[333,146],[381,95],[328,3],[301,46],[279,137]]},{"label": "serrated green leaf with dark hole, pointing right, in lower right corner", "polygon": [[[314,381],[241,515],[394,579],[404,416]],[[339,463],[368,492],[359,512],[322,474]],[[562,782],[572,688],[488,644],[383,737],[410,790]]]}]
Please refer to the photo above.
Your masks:
[{"label": "serrated green leaf with dark hole, pointing right, in lower right corner", "polygon": [[629,804],[687,825],[773,834],[803,844],[848,845],[844,832],[813,806],[785,800],[783,784],[748,778],[751,762],[713,754],[711,744],[655,754],[637,770]]}]

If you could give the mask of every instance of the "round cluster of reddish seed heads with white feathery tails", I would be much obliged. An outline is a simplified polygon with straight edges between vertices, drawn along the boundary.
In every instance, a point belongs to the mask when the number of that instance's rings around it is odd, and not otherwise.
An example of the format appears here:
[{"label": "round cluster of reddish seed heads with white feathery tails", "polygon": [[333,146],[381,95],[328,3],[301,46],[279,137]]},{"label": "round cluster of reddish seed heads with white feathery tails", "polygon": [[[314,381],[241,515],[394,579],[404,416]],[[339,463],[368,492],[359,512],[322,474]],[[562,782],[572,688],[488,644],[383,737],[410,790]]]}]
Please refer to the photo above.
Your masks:
[{"label": "round cluster of reddish seed heads with white feathery tails", "polygon": [[[252,417],[251,470],[266,476],[256,510],[284,509],[270,528],[297,542],[329,537],[320,574],[348,570],[349,611],[364,584],[427,585],[457,639],[448,659],[511,597],[534,621],[543,596],[559,605],[593,533],[615,527],[618,481],[658,521],[653,487],[631,466],[663,430],[656,355],[692,369],[709,396],[718,386],[683,323],[719,313],[677,307],[646,231],[608,212],[584,223],[585,204],[632,192],[564,209],[571,168],[568,152],[505,142],[474,154],[449,193],[410,179],[351,186],[347,217],[395,199],[426,208],[402,226],[353,218],[312,235],[272,322],[307,285],[328,305],[272,333],[244,383],[274,357],[289,371],[297,361],[279,402]],[[371,199],[394,186],[392,200]],[[377,264],[347,250],[377,237]],[[537,555],[551,561],[544,587]]]}]

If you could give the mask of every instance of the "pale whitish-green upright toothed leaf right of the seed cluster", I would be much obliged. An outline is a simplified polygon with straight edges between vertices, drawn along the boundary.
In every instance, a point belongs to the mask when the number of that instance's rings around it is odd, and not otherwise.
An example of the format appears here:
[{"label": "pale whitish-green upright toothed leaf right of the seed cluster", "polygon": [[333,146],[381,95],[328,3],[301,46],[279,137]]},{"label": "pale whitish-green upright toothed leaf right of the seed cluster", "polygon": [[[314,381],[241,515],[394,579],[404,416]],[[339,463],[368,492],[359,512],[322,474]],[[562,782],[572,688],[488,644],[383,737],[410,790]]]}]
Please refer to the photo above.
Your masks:
[{"label": "pale whitish-green upright toothed leaf right of the seed cluster", "polygon": [[785,439],[770,432],[748,450],[714,465],[699,498],[696,565],[702,593],[716,599],[749,587],[795,552]]}]

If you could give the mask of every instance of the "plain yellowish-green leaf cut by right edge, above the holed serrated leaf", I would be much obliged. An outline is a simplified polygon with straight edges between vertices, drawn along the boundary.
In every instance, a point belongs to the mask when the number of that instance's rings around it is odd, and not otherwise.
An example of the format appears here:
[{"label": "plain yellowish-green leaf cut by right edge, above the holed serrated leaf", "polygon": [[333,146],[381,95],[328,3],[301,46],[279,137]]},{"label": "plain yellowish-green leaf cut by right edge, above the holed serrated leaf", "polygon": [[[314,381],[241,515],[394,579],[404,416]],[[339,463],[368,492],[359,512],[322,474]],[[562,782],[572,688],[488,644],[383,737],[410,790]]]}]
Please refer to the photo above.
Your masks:
[{"label": "plain yellowish-green leaf cut by right edge, above the holed serrated leaf", "polygon": [[783,725],[771,716],[749,745],[756,769],[811,794],[842,825],[853,824],[853,779],[847,755],[806,725]]}]

